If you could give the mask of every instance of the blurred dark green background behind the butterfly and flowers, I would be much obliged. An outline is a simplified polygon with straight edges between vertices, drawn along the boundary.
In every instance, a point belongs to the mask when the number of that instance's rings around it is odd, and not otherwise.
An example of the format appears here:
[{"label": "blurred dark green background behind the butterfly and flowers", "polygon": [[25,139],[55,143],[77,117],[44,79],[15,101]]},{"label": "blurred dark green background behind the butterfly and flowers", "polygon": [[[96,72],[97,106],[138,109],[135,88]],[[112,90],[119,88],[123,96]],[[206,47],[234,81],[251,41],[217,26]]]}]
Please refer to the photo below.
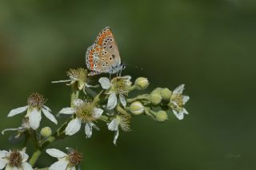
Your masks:
[{"label": "blurred dark green background behind the butterfly and flowers", "polygon": [[[123,74],[148,77],[150,89],[185,83],[190,115],[183,121],[170,115],[162,124],[134,117],[133,131],[122,132],[117,147],[104,124],[90,139],[81,130],[51,147],[82,150],[82,169],[256,169],[252,0],[2,0],[0,129],[18,127],[22,115],[6,115],[32,92],[44,94],[54,113],[69,105],[70,89],[50,81],[85,67],[86,48],[105,26],[122,61],[143,68]],[[9,134],[0,136],[0,149],[18,147],[10,147]],[[54,161],[43,154],[37,165]]]}]

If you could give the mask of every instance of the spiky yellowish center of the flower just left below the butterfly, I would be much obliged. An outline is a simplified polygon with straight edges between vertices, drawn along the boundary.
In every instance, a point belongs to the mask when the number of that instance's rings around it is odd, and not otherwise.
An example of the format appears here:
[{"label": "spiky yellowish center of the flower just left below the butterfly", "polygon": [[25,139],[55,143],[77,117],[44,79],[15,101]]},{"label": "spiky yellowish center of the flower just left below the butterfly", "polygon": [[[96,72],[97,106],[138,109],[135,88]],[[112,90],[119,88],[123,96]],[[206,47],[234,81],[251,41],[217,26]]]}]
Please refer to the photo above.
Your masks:
[{"label": "spiky yellowish center of the flower just left below the butterfly", "polygon": [[67,73],[67,76],[74,81],[83,81],[86,82],[87,69],[78,68],[70,69]]}]

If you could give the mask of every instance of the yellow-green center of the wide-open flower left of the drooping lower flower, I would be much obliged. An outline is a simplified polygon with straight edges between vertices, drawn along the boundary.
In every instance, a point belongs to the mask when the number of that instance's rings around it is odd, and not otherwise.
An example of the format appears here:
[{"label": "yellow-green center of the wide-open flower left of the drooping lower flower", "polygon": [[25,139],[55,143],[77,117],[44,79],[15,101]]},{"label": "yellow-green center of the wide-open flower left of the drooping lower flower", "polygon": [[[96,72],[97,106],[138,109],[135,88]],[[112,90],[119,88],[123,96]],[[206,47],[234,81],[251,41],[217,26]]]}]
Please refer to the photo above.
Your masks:
[{"label": "yellow-green center of the wide-open flower left of the drooping lower flower", "polygon": [[83,122],[96,121],[93,102],[84,101],[81,105],[78,105],[76,110],[76,116]]}]

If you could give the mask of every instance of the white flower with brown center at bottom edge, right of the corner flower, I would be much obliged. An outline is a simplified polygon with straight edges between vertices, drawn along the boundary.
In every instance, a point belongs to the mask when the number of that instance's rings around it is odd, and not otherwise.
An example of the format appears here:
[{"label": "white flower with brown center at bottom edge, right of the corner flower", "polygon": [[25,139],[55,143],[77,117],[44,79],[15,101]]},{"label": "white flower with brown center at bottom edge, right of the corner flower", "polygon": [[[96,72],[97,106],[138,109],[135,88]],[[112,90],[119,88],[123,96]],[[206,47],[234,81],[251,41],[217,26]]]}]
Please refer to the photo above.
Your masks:
[{"label": "white flower with brown center at bottom edge, right of the corner flower", "polygon": [[75,166],[80,164],[83,160],[82,153],[72,148],[68,149],[68,154],[56,148],[46,149],[46,153],[50,156],[58,158],[58,161],[50,165],[49,170],[75,170]]}]

